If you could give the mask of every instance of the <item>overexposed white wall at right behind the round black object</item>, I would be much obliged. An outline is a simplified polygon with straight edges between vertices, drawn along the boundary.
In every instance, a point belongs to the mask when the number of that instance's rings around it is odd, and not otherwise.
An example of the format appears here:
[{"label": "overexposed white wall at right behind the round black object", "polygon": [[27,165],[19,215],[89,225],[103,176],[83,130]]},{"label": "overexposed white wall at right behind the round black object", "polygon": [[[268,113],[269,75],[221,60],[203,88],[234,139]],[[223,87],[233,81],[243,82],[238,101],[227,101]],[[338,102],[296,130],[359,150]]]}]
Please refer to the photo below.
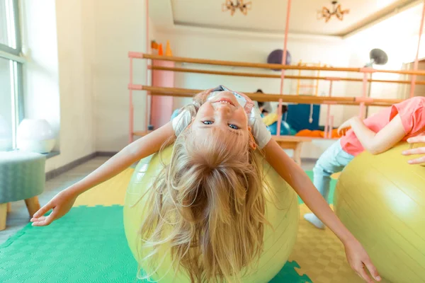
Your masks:
[{"label": "overexposed white wall at right behind the round black object", "polygon": [[[414,6],[407,11],[398,13],[392,18],[377,23],[346,39],[351,49],[351,64],[365,64],[369,59],[369,52],[373,48],[384,50],[388,55],[388,62],[383,66],[374,65],[375,69],[403,69],[404,64],[413,62],[416,57],[420,14],[423,5]],[[422,37],[419,47],[419,59],[425,58],[425,42]],[[410,76],[399,74],[375,73],[373,79],[380,80],[410,80]],[[424,80],[419,76],[417,79]],[[353,86],[356,91],[361,90],[361,83]],[[398,83],[373,82],[370,87],[370,97],[403,99],[404,93],[409,93],[410,85]],[[378,112],[380,107],[370,107],[369,115]]]}]

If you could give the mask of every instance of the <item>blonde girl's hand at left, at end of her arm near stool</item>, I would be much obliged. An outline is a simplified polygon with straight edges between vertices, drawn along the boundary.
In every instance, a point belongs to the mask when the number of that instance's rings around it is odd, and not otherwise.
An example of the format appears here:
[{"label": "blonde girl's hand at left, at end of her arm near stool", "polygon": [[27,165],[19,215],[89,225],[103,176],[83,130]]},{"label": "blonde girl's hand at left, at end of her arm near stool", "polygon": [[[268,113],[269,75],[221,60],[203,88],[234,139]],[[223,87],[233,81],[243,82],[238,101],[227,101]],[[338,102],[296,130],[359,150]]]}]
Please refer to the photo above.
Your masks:
[{"label": "blonde girl's hand at left, at end of her arm near stool", "polygon": [[[47,226],[56,219],[60,219],[69,212],[77,197],[78,194],[69,190],[63,190],[55,195],[50,202],[40,208],[38,212],[35,212],[33,218],[31,218],[33,226]],[[43,216],[50,209],[53,209],[53,212],[48,216]]]}]

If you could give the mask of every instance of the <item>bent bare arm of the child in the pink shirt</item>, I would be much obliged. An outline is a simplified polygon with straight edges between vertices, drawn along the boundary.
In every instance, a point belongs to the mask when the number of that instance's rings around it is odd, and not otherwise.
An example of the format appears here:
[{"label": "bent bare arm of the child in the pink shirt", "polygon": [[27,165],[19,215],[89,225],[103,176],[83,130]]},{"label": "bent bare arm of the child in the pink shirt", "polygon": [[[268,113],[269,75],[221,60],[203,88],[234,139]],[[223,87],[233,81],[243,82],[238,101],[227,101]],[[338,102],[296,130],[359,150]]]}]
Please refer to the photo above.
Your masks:
[{"label": "bent bare arm of the child in the pink shirt", "polygon": [[397,114],[378,133],[366,127],[363,120],[353,117],[349,120],[349,125],[365,150],[371,154],[380,154],[401,141],[406,135],[402,124],[402,118]]}]

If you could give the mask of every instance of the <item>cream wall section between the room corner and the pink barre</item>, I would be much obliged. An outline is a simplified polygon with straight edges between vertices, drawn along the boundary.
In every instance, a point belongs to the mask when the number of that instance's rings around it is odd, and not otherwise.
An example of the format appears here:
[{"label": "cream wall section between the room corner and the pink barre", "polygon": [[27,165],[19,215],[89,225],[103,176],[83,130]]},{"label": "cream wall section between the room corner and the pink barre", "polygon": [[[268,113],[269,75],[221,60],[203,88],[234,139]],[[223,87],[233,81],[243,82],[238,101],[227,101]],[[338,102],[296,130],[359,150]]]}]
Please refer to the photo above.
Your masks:
[{"label": "cream wall section between the room corner and the pink barre", "polygon": [[[94,0],[96,15],[96,150],[119,151],[128,144],[130,61],[128,52],[145,52],[145,1]],[[149,31],[154,38],[154,27]],[[145,83],[147,60],[135,59],[134,83]],[[134,91],[135,129],[145,127],[146,93]]]}]

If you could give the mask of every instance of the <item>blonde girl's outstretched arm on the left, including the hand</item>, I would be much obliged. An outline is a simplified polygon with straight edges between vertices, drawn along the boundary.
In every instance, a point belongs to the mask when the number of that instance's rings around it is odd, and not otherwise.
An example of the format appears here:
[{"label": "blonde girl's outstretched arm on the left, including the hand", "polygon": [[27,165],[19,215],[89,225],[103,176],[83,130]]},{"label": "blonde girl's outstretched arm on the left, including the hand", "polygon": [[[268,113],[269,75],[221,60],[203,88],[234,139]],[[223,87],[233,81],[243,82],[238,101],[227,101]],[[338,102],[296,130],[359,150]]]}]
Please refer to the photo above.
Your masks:
[{"label": "blonde girl's outstretched arm on the left, including the hand", "polygon": [[[123,150],[115,154],[93,173],[57,194],[44,207],[41,207],[38,212],[35,212],[31,219],[33,226],[46,226],[64,216],[82,192],[113,178],[113,176],[118,175],[118,173],[124,171],[136,161],[159,151],[162,144],[171,137],[174,137],[174,129],[171,122],[169,122],[145,137],[125,146]],[[50,209],[53,209],[53,212],[49,216],[43,216]]]}]

